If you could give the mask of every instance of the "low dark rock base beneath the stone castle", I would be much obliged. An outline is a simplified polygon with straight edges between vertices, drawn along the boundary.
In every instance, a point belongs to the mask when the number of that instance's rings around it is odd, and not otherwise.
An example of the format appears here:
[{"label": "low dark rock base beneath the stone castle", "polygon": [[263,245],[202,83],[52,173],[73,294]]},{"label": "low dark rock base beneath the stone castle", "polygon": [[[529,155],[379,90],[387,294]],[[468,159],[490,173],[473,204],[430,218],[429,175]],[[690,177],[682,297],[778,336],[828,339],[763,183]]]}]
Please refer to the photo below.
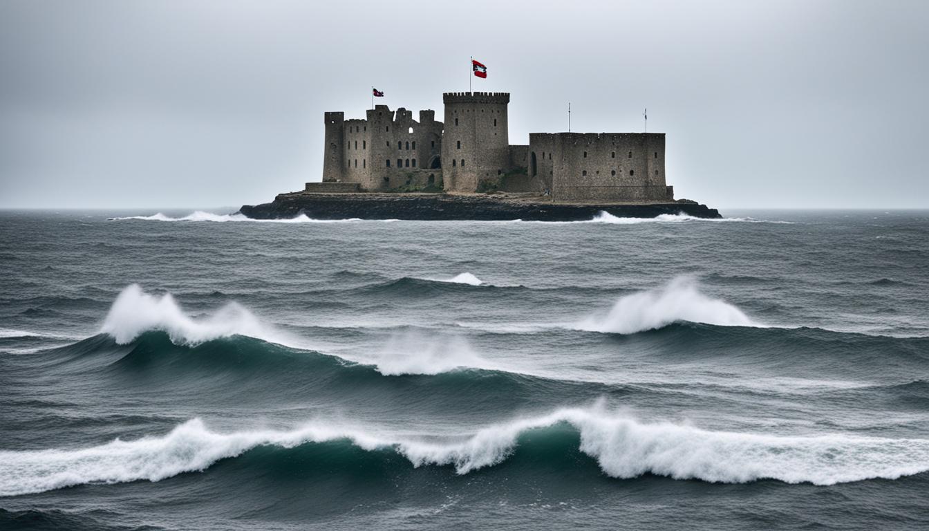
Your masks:
[{"label": "low dark rock base beneath the stone castle", "polygon": [[695,218],[722,218],[719,211],[696,203],[565,204],[542,198],[438,193],[281,193],[272,203],[242,206],[253,219],[286,219],[305,214],[312,219],[473,219],[504,221],[582,221],[600,212],[618,218],[655,218],[685,214]]}]

